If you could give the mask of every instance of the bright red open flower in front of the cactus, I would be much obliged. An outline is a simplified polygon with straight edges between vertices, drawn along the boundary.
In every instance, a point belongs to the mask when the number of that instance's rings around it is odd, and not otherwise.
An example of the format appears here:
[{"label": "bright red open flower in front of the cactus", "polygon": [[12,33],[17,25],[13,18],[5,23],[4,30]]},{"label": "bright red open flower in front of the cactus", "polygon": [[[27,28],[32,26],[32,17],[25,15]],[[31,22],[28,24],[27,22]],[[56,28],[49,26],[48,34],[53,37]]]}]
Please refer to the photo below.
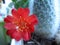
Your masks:
[{"label": "bright red open flower in front of the cactus", "polygon": [[7,16],[4,21],[7,34],[17,41],[21,38],[29,40],[34,32],[34,25],[38,22],[34,14],[29,16],[28,8],[12,9],[12,16]]}]

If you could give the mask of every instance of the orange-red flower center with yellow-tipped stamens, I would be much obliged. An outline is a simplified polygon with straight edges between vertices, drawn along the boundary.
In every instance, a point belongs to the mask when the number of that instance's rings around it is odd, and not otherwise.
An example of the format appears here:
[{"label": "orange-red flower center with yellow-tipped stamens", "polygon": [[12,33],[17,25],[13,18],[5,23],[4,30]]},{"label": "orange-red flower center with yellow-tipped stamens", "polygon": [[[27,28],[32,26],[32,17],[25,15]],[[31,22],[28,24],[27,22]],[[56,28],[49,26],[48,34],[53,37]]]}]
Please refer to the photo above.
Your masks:
[{"label": "orange-red flower center with yellow-tipped stamens", "polygon": [[27,26],[27,22],[23,18],[20,18],[20,20],[18,22],[16,21],[15,24],[17,25],[16,29],[19,32],[23,32],[24,30],[27,31],[27,29],[29,29]]}]

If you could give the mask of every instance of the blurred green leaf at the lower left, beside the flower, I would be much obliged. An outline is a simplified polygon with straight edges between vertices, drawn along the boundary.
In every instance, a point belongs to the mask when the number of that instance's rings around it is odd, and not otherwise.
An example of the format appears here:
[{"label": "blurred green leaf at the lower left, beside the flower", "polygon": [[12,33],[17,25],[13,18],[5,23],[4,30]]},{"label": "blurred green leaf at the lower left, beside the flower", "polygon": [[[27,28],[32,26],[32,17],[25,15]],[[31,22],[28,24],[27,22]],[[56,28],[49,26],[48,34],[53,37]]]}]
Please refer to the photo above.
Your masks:
[{"label": "blurred green leaf at the lower left, beside the flower", "polygon": [[4,29],[4,22],[0,22],[0,45],[7,45],[6,31]]}]

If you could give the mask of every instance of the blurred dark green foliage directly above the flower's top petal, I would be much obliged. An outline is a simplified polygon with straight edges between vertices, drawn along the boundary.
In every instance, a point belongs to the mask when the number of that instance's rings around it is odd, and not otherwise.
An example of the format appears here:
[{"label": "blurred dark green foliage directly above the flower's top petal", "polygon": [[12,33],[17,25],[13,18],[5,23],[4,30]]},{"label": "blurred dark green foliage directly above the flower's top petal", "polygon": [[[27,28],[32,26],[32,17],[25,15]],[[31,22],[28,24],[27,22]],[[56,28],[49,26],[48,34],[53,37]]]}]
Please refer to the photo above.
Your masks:
[{"label": "blurred dark green foliage directly above the flower's top petal", "polygon": [[16,9],[18,9],[19,7],[25,8],[28,6],[28,0],[13,0],[13,3]]}]

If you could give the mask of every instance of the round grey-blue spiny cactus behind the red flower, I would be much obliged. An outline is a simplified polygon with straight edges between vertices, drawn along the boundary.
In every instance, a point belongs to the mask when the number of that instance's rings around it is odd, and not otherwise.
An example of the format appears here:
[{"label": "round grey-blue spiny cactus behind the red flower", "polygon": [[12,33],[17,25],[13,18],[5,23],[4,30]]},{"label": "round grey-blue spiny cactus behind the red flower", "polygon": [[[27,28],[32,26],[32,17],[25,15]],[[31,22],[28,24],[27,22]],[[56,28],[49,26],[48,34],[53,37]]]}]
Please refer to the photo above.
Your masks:
[{"label": "round grey-blue spiny cactus behind the red flower", "polygon": [[54,7],[54,0],[34,0],[33,12],[39,19],[35,33],[40,37],[54,38],[58,31],[58,21]]}]

